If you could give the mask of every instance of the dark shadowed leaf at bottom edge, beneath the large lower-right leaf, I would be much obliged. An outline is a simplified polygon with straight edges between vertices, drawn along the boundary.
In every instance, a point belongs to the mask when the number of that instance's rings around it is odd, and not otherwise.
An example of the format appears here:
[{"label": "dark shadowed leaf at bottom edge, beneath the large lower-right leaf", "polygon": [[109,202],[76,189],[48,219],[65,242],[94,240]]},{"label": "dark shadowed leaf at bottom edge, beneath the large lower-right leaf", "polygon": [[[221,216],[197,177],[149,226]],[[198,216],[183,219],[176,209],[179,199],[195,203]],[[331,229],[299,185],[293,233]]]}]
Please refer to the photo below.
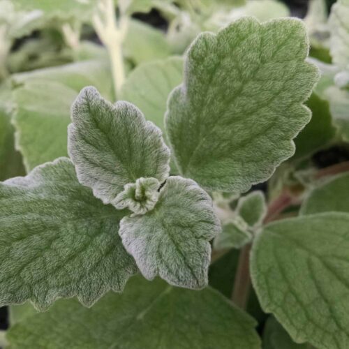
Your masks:
[{"label": "dark shadowed leaf at bottom edge, beneath the large lower-right leaf", "polygon": [[263,349],[311,349],[313,346],[307,343],[297,344],[292,341],[290,335],[270,316],[263,331]]}]

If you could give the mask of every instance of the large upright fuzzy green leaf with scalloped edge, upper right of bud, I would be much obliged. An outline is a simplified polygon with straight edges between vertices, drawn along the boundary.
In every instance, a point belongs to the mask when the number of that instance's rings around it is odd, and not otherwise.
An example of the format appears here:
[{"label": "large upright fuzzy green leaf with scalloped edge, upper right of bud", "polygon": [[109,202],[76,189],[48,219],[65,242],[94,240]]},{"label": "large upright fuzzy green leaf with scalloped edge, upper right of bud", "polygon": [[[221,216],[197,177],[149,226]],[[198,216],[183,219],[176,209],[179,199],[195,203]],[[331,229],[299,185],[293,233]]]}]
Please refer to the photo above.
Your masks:
[{"label": "large upright fuzzy green leaf with scalloped edge, upper right of bud", "polygon": [[246,17],[188,50],[165,126],[179,170],[209,190],[244,192],[295,152],[318,78],[299,20]]}]

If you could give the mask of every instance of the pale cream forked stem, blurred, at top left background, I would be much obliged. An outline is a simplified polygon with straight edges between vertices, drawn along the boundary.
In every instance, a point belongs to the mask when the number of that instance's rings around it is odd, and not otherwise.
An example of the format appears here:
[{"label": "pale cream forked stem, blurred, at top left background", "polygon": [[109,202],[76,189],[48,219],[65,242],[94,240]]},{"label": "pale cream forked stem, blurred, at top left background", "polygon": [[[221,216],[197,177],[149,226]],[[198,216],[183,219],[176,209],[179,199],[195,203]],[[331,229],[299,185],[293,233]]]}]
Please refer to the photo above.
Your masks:
[{"label": "pale cream forked stem, blurred, at top left background", "polygon": [[[120,17],[117,20],[113,0],[101,0],[99,8],[101,16],[94,16],[94,28],[102,43],[107,47],[112,68],[115,97],[118,98],[125,81],[122,43],[126,36],[128,20],[122,10],[120,10]],[[119,8],[122,8],[122,6],[119,6]]]}]

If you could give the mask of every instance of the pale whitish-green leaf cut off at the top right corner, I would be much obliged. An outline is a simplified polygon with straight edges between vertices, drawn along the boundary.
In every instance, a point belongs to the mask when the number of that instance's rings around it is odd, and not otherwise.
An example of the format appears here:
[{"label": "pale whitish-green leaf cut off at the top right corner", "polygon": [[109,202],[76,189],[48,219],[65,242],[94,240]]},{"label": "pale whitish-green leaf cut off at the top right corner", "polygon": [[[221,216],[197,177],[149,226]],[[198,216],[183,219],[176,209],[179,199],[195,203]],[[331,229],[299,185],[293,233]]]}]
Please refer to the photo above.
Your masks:
[{"label": "pale whitish-green leaf cut off at the top right corner", "polygon": [[349,0],[338,0],[329,17],[330,52],[334,64],[349,68]]}]

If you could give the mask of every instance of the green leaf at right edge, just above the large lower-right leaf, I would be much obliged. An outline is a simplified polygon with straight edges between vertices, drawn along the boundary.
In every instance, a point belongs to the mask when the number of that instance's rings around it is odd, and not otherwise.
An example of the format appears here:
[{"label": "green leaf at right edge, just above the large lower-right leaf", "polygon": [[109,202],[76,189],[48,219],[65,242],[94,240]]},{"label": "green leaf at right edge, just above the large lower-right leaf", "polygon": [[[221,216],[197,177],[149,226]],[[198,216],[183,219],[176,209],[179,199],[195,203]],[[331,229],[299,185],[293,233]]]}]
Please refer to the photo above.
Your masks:
[{"label": "green leaf at right edge, just above the large lower-right leaf", "polygon": [[301,214],[317,214],[327,211],[349,213],[349,174],[339,174],[313,188],[304,200]]}]

